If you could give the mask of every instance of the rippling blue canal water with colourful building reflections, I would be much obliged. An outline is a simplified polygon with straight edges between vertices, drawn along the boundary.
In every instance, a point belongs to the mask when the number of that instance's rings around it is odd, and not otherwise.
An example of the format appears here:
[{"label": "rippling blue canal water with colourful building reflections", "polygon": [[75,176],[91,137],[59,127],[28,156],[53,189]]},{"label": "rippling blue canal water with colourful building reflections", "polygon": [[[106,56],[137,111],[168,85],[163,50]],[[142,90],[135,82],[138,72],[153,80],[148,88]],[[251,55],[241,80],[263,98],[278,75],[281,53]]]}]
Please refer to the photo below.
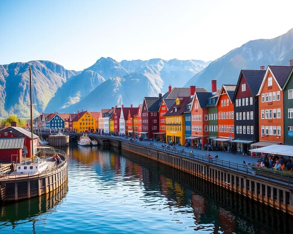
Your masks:
[{"label": "rippling blue canal water with colourful building reflections", "polygon": [[[63,149],[64,150],[64,149]],[[291,216],[109,147],[68,152],[68,185],[0,207],[0,233],[291,233]]]}]

